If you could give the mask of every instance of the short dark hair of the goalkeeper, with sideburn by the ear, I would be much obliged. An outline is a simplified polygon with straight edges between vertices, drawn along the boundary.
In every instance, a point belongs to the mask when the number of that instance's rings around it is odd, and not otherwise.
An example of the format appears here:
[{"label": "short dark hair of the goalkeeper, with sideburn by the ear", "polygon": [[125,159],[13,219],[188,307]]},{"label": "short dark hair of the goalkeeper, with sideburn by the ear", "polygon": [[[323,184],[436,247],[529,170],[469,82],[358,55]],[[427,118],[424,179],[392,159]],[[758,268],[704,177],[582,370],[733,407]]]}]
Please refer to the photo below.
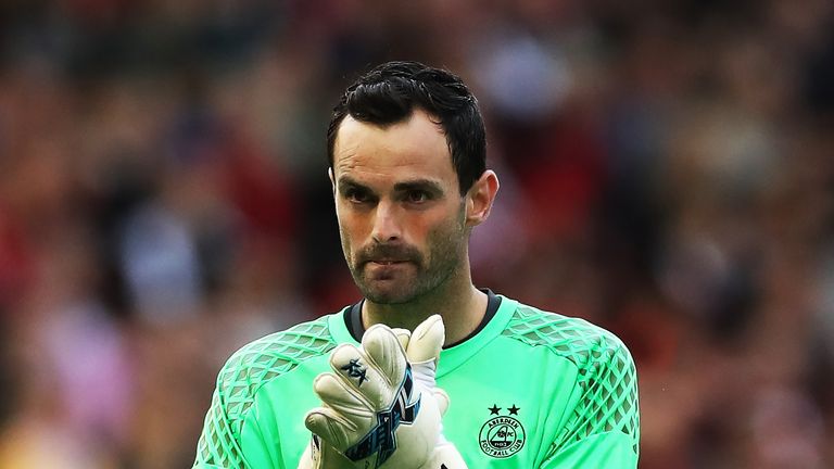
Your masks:
[{"label": "short dark hair of the goalkeeper, with sideburn by the ear", "polygon": [[387,126],[407,119],[415,109],[437,118],[443,129],[460,194],[465,194],[486,170],[486,132],[478,100],[455,74],[419,62],[381,64],[348,87],[327,129],[330,167],[336,135],[348,114]]}]

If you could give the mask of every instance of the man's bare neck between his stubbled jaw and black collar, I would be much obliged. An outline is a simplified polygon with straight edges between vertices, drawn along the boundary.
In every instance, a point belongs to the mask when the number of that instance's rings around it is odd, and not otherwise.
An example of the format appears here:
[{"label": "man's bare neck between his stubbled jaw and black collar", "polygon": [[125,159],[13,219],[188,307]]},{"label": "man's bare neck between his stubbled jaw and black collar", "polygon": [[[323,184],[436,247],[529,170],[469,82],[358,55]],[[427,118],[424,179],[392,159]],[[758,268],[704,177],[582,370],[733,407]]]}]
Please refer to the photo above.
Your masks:
[{"label": "man's bare neck between his stubbled jaw and black collar", "polygon": [[475,288],[469,269],[466,275],[453,276],[434,290],[408,303],[378,304],[366,300],[362,308],[365,329],[376,324],[413,331],[433,314],[443,317],[446,329],[445,344],[468,337],[481,324],[486,313],[486,294]]}]

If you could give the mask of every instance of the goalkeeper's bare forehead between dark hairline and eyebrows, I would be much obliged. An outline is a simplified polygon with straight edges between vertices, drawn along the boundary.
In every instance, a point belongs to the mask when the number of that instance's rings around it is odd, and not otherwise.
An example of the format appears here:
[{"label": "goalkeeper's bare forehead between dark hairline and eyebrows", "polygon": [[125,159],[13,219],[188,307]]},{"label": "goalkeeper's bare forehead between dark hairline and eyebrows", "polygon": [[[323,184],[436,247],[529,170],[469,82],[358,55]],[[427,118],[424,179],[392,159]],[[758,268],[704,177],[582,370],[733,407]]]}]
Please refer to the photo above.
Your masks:
[{"label": "goalkeeper's bare forehead between dark hairline and eyebrows", "polygon": [[439,124],[416,110],[403,122],[378,126],[348,115],[333,145],[336,178],[432,178],[456,183],[452,155]]}]

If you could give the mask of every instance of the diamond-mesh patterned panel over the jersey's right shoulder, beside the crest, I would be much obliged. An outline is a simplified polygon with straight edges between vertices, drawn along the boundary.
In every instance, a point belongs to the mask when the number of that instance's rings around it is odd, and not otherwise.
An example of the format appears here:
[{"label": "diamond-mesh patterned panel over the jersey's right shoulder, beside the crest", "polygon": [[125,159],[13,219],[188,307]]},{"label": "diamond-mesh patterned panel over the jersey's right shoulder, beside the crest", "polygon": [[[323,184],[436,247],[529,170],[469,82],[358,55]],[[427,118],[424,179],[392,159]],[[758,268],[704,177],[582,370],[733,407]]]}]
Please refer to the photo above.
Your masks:
[{"label": "diamond-mesh patterned panel over the jersey's right shoulder, beside the crest", "polygon": [[549,454],[587,436],[621,431],[632,439],[639,454],[640,411],[634,362],[612,333],[583,319],[545,313],[519,305],[504,335],[530,345],[542,345],[579,369],[582,396]]}]

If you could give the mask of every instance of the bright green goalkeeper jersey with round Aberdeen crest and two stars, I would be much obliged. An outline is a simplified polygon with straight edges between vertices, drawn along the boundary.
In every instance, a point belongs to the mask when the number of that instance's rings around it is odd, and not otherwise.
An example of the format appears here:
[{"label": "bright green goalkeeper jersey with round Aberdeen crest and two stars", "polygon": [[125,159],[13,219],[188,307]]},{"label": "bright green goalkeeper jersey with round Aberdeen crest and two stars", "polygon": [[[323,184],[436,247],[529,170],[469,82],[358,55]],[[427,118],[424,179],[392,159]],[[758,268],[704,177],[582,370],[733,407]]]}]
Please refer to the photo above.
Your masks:
[{"label": "bright green goalkeeper jersey with round Aberdeen crest and two stars", "polygon": [[[470,468],[635,468],[634,363],[610,332],[490,294],[482,327],[440,355],[443,434]],[[256,340],[217,379],[195,468],[298,467],[329,352],[358,345],[359,307]],[[353,318],[353,319],[352,319]]]}]

